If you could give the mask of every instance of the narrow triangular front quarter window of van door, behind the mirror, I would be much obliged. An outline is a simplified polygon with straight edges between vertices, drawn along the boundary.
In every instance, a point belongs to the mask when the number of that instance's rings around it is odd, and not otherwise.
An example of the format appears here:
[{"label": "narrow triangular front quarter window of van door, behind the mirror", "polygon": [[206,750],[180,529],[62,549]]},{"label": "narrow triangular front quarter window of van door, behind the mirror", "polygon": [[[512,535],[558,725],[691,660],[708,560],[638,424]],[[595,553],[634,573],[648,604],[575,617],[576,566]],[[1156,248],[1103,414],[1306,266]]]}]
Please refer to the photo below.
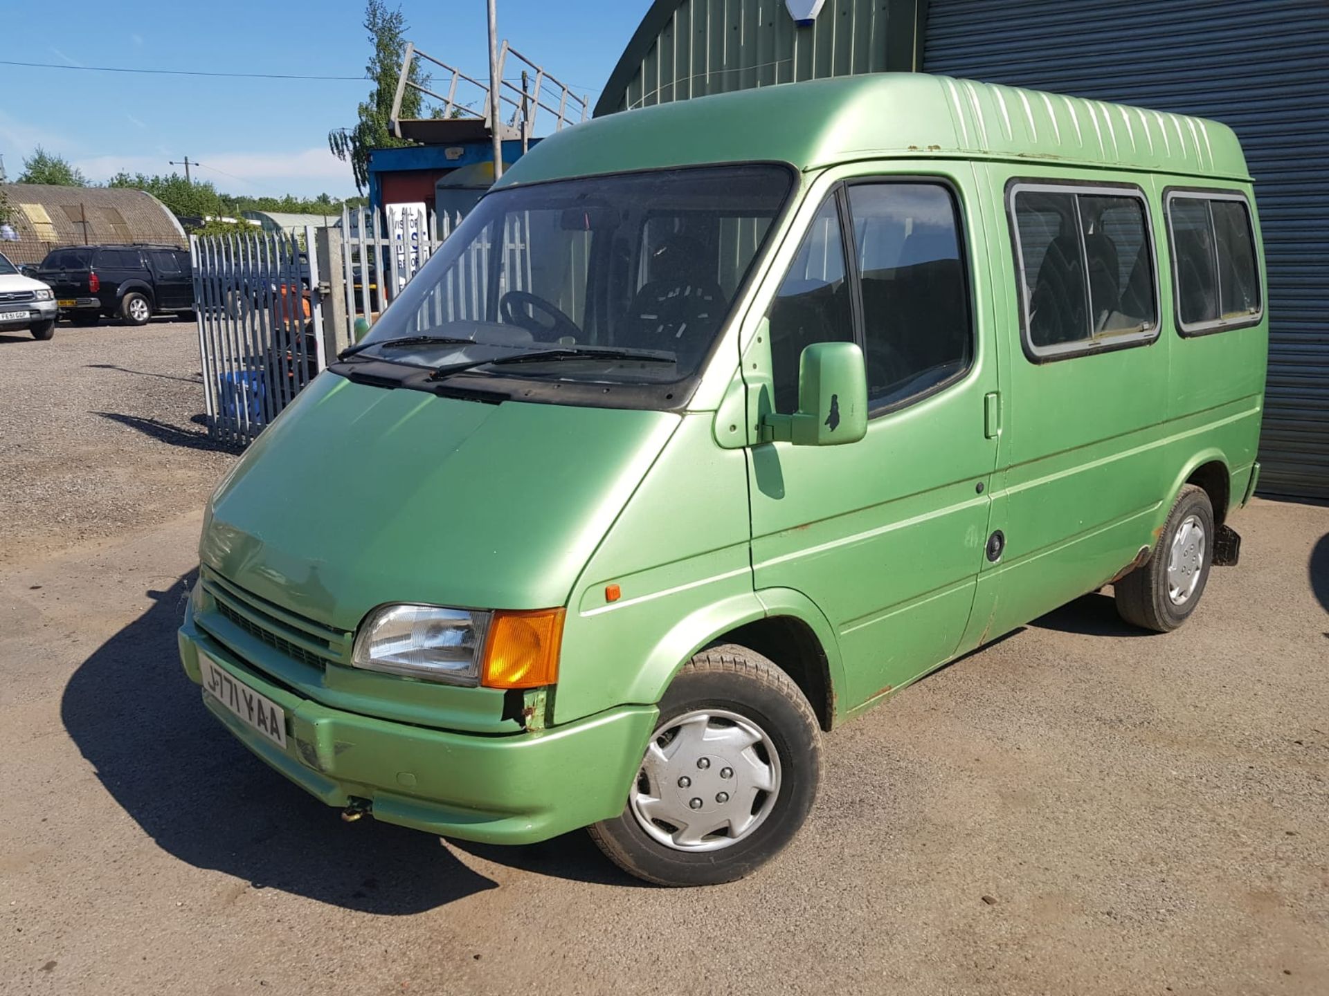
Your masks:
[{"label": "narrow triangular front quarter window of van door, behind the mirror", "polygon": [[853,341],[853,312],[844,266],[836,195],[821,205],[768,312],[775,410],[799,408],[799,359],[812,343]]}]

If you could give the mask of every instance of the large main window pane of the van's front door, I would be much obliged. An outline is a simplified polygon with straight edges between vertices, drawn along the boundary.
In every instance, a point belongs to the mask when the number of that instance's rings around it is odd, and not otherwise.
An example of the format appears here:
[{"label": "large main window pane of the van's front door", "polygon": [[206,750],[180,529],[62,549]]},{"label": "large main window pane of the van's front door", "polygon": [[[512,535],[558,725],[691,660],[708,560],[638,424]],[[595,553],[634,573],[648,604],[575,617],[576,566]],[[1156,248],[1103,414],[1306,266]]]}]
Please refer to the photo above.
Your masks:
[{"label": "large main window pane of the van's front door", "polygon": [[925,393],[969,369],[973,335],[958,210],[938,183],[849,187],[863,286],[870,408]]}]

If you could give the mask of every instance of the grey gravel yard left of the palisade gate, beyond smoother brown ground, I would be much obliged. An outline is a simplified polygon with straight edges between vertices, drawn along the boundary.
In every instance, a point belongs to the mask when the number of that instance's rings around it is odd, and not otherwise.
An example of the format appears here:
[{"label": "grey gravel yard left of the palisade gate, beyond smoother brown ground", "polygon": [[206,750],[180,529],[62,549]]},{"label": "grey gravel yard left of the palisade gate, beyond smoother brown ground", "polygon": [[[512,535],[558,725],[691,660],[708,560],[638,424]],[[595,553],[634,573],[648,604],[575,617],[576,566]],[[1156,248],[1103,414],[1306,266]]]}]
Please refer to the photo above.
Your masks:
[{"label": "grey gravel yard left of the palisade gate, beyond smoother brown ground", "polygon": [[235,459],[202,410],[191,323],[0,333],[0,564],[202,507]]}]

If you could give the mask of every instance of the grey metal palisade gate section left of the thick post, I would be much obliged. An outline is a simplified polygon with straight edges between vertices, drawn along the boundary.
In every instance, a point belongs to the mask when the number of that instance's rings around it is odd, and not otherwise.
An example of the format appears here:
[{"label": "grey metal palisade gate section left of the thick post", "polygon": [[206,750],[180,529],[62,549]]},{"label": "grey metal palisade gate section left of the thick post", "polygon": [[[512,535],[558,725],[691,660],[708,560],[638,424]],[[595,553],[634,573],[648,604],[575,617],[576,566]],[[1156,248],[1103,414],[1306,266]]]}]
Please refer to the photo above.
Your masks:
[{"label": "grey metal palisade gate section left of the thick post", "polygon": [[191,235],[209,434],[245,444],[327,367],[315,230]]}]

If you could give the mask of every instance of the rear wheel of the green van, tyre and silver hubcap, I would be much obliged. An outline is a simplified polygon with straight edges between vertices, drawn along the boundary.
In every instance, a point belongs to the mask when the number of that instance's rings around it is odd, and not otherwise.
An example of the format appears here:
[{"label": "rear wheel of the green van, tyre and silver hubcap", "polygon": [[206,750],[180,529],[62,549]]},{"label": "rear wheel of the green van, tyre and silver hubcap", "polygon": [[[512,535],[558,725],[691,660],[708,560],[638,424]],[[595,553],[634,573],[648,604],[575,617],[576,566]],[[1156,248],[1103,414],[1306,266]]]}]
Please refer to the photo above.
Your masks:
[{"label": "rear wheel of the green van, tyre and silver hubcap", "polygon": [[1187,485],[1163,525],[1148,563],[1114,586],[1122,619],[1158,633],[1181,625],[1195,611],[1209,580],[1213,537],[1209,495]]}]

